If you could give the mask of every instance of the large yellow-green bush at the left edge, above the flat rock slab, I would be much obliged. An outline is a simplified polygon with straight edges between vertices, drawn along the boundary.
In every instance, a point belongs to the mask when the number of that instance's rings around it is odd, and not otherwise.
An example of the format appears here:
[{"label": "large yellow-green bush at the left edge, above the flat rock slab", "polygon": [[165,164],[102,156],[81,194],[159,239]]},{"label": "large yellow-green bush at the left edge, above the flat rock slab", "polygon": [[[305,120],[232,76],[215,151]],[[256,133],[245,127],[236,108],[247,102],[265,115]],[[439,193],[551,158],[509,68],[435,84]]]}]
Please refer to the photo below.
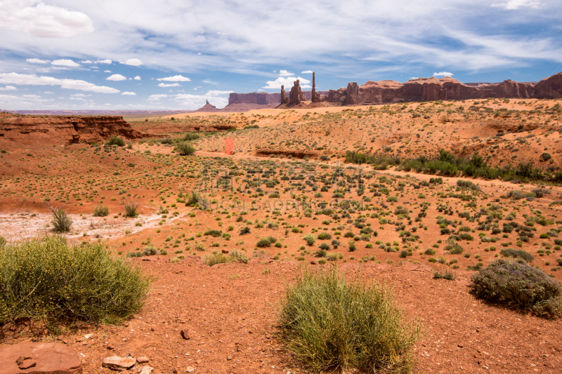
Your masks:
[{"label": "large yellow-green bush at the left edge, above the flat rock slab", "polygon": [[144,305],[152,278],[101,243],[71,246],[61,236],[0,251],[0,322],[116,323]]}]

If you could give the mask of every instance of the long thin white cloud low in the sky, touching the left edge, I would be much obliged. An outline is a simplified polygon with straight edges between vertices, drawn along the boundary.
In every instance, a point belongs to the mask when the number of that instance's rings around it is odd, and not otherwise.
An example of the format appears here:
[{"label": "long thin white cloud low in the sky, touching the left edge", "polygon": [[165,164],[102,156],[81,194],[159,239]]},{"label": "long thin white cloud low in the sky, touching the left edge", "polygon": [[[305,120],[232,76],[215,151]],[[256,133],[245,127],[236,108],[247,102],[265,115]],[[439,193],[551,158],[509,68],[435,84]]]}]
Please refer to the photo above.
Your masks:
[{"label": "long thin white cloud low in the sky, touching the left edge", "polygon": [[33,86],[60,86],[70,90],[91,91],[95,93],[118,93],[119,90],[106,86],[96,86],[93,83],[78,79],[58,79],[53,76],[37,76],[36,74],[0,73],[0,83],[33,85]]}]

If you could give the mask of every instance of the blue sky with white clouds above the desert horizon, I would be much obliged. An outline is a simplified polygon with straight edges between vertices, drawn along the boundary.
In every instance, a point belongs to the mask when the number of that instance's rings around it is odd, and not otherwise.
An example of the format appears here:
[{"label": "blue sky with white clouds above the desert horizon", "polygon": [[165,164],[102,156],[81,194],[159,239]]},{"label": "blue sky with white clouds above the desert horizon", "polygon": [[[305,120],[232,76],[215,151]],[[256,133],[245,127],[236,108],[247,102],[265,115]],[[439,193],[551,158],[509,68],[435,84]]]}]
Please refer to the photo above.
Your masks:
[{"label": "blue sky with white clouds above the desert horizon", "polygon": [[540,81],[561,19],[559,0],[0,0],[0,108],[221,108],[312,72],[318,91]]}]

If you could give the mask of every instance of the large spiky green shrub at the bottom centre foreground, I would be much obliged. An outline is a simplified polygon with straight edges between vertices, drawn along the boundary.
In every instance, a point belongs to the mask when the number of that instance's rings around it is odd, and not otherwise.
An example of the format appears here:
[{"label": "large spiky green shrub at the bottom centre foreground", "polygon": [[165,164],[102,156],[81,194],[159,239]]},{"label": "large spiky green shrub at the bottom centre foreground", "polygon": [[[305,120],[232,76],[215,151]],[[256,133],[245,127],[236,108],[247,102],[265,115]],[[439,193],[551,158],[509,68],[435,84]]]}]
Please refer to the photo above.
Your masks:
[{"label": "large spiky green shrub at the bottom centre foreground", "polygon": [[410,373],[419,321],[409,321],[386,284],[348,282],[336,267],[303,268],[279,310],[282,341],[307,368]]}]

